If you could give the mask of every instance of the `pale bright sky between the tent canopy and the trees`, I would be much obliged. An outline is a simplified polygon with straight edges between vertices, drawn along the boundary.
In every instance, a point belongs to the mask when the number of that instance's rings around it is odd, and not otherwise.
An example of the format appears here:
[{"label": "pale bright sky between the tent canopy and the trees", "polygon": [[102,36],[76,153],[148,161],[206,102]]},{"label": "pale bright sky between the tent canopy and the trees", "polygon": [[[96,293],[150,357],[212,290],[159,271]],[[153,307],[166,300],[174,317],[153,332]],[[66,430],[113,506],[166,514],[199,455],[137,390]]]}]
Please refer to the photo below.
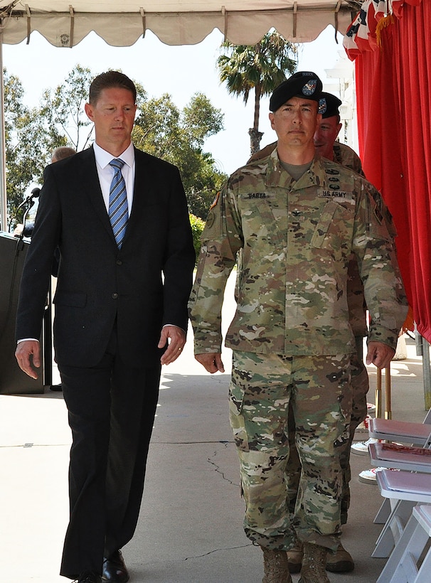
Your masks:
[{"label": "pale bright sky between the tent canopy and the trees", "polygon": [[[334,28],[328,26],[312,43],[299,49],[298,70],[312,70],[324,82],[329,82],[325,70],[332,68],[344,54],[342,36],[334,40]],[[248,129],[253,122],[253,100],[229,95],[221,85],[216,68],[223,35],[215,29],[198,45],[168,46],[147,31],[145,38],[130,47],[112,47],[90,33],[73,48],[54,47],[39,33],[31,34],[30,43],[3,46],[3,66],[9,75],[16,75],[25,90],[24,101],[36,106],[43,90],[56,87],[76,65],[90,68],[95,75],[107,69],[119,68],[133,80],[142,83],[149,97],[169,93],[177,107],[184,107],[196,92],[204,93],[214,107],[224,114],[222,132],[206,140],[204,149],[211,152],[218,169],[227,174],[243,166],[250,157]],[[268,121],[269,97],[260,105],[261,144],[275,140]]]}]

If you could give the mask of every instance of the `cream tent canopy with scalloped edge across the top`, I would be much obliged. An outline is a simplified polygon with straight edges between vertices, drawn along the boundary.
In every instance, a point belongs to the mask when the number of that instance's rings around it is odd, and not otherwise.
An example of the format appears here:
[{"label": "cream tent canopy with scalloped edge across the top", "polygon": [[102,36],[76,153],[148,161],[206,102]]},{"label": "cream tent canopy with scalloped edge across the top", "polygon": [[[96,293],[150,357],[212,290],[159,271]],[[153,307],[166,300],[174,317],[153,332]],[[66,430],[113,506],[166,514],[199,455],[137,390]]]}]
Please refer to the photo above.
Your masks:
[{"label": "cream tent canopy with scalloped edge across the top", "polygon": [[130,46],[151,30],[168,45],[196,44],[214,28],[235,44],[253,44],[270,30],[288,41],[314,41],[332,24],[344,34],[355,0],[0,0],[3,42],[32,31],[54,46],[72,47],[95,31],[112,46]]}]

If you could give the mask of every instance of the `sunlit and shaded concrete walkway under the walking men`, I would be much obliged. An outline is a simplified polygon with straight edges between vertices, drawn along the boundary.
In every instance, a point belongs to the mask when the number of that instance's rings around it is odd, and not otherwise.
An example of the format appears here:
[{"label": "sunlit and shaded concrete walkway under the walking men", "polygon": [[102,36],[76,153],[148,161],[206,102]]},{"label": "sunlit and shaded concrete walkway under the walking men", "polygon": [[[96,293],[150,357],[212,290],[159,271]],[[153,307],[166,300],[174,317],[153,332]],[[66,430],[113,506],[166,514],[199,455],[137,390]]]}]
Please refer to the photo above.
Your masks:
[{"label": "sunlit and shaded concrete walkway under the walking men", "polygon": [[[231,288],[231,287],[230,287]],[[229,291],[231,293],[231,289]],[[233,302],[223,317],[228,323]],[[407,340],[408,358],[394,361],[393,418],[425,417],[422,359]],[[228,423],[226,374],[208,375],[192,353],[165,367],[137,533],[124,548],[132,583],[260,583],[262,553],[242,528],[238,461]],[[370,367],[373,402],[375,368]],[[54,378],[53,382],[56,381]],[[358,439],[367,434],[357,433]],[[61,583],[68,522],[70,430],[61,393],[0,395],[0,583]],[[375,583],[384,559],[371,558],[382,498],[358,481],[368,456],[351,456],[352,503],[344,546],[356,560],[331,582]],[[299,575],[294,575],[296,583]]]}]

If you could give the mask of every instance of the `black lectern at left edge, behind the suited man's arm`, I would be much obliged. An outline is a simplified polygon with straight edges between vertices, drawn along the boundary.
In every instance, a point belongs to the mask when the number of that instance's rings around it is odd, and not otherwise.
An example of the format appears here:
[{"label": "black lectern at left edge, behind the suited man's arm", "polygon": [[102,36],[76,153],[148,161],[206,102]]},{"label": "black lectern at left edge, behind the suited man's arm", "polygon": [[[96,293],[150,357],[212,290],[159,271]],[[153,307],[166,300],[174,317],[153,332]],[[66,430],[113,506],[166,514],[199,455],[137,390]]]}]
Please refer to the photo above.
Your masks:
[{"label": "black lectern at left edge, behind the suited man's arm", "polygon": [[[44,382],[50,383],[49,378],[47,382],[44,371],[46,364],[44,354],[42,354],[43,364],[38,370],[36,380],[23,373],[15,358],[16,308],[28,245],[28,241],[0,231],[0,394],[41,393],[44,392]],[[50,311],[50,306],[47,306],[47,311],[48,309]],[[45,330],[46,326],[43,328]],[[46,343],[49,343],[50,347],[50,318],[48,336]],[[42,353],[44,340],[45,338],[41,342]]]}]

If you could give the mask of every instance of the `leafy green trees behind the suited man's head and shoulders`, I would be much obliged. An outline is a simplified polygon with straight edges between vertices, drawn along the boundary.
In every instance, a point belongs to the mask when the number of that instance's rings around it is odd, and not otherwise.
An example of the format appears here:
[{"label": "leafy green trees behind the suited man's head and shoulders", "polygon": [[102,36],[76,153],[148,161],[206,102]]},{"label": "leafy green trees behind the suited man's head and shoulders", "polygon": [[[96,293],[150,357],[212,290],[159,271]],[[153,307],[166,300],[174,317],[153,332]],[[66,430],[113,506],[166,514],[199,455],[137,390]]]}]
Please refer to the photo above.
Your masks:
[{"label": "leafy green trees behind the suited man's head and shoulders", "polygon": [[[58,146],[86,148],[94,139],[93,125],[84,111],[88,87],[95,73],[77,65],[65,81],[43,92],[38,107],[23,105],[24,91],[18,77],[4,72],[6,124],[6,183],[9,224],[20,217],[16,208],[26,188],[41,183],[43,169]],[[132,138],[149,154],[176,164],[181,172],[191,213],[206,218],[208,208],[225,181],[204,142],[223,129],[223,113],[203,94],[191,97],[180,110],[170,95],[148,99],[139,82],[138,114]]]}]

